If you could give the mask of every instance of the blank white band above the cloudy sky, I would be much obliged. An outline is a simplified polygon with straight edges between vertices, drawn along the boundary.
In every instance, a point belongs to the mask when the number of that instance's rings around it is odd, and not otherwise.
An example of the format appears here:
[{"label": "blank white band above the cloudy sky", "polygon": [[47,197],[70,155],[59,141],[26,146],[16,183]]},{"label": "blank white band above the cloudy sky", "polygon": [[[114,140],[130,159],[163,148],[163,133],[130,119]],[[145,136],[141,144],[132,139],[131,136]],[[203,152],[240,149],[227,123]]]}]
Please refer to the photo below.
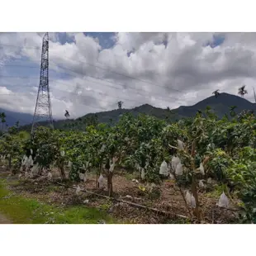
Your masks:
[{"label": "blank white band above the cloudy sky", "polygon": [[255,31],[253,1],[8,0],[0,31]]}]

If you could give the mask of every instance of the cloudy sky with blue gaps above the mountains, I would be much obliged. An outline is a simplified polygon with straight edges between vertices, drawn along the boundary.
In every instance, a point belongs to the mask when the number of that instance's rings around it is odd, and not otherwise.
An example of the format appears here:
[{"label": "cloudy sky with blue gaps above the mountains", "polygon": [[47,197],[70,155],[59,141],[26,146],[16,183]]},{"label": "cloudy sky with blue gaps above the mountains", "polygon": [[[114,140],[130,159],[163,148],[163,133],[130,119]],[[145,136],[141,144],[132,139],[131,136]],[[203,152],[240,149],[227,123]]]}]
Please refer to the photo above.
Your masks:
[{"label": "cloudy sky with blue gaps above the mountains", "polygon": [[[33,114],[44,33],[0,33],[0,108]],[[148,103],[193,105],[212,92],[254,102],[256,33],[49,33],[54,119]]]}]

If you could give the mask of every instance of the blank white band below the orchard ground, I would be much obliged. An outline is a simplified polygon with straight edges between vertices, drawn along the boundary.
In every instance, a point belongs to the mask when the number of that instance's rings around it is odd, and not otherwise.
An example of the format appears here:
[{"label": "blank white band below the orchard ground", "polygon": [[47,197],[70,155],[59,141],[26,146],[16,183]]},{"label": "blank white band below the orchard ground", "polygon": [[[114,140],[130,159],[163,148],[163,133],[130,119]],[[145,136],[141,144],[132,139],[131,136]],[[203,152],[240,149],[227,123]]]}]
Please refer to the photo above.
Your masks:
[{"label": "blank white band below the orchard ground", "polygon": [[254,225],[1,225],[2,255],[251,255]]}]

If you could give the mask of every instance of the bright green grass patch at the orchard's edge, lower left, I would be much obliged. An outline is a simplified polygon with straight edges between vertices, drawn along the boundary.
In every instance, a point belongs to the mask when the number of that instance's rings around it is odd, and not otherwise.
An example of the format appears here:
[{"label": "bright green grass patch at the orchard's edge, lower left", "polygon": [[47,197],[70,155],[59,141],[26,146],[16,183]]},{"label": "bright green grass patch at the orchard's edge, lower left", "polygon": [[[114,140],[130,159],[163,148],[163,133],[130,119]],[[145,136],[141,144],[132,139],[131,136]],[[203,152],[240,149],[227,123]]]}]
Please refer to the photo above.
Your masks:
[{"label": "bright green grass patch at the orchard's edge, lower left", "polygon": [[86,206],[51,206],[32,198],[21,197],[7,188],[0,178],[0,212],[14,224],[97,224],[99,220],[114,223],[104,211]]}]

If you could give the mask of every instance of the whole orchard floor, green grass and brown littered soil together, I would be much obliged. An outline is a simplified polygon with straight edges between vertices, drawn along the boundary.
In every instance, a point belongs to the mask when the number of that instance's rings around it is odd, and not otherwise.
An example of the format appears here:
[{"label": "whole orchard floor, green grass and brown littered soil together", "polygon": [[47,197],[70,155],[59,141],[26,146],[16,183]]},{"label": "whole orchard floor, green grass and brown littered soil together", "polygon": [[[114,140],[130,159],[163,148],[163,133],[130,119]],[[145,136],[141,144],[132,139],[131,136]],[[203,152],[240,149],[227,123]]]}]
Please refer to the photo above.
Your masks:
[{"label": "whole orchard floor, green grass and brown littered soil together", "polygon": [[[169,216],[154,211],[130,206],[129,203],[111,201],[90,193],[76,195],[75,189],[59,186],[44,177],[37,179],[8,176],[0,171],[0,223],[1,214],[12,223],[119,223],[119,224],[168,224],[191,223],[183,197],[173,181],[164,181],[150,192],[147,184],[142,192],[133,181],[135,176],[116,173],[113,178],[114,196],[124,201],[154,207],[167,211]],[[71,187],[81,187],[91,192],[106,195],[107,188],[95,188],[95,175],[88,176],[86,183],[69,183]],[[107,182],[106,182],[107,183]],[[105,184],[107,185],[107,184]],[[209,185],[199,191],[204,223],[234,223],[235,211],[216,206],[223,188]],[[177,215],[187,216],[187,219]],[[3,218],[2,218],[3,219]],[[104,221],[101,221],[104,220]]]}]

